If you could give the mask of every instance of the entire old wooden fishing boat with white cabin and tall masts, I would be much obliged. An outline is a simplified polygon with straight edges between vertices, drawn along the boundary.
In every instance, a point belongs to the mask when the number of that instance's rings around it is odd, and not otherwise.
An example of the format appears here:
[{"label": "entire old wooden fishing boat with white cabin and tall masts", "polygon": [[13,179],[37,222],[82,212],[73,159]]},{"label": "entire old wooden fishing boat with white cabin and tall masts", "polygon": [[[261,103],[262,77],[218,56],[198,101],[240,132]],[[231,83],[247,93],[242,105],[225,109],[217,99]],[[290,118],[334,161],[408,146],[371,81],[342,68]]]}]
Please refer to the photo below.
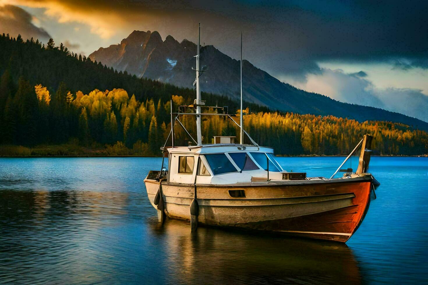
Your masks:
[{"label": "entire old wooden fishing boat with white cabin and tall masts", "polygon": [[[199,25],[200,39],[200,25]],[[330,178],[306,177],[303,172],[288,172],[276,161],[274,150],[259,146],[243,128],[242,114],[242,35],[241,35],[241,116],[240,124],[226,107],[207,107],[201,100],[199,76],[205,69],[196,55],[196,100],[191,106],[172,110],[172,145],[161,148],[160,170],[150,170],[144,179],[150,203],[165,218],[190,220],[197,226],[222,226],[277,232],[306,238],[346,242],[362,223],[380,185],[368,173],[372,137],[364,135]],[[215,110],[215,112],[201,112]],[[193,112],[192,112],[193,111]],[[202,144],[201,117],[226,116],[240,129],[235,137],[216,136]],[[196,140],[181,123],[181,116],[196,117]],[[194,144],[175,146],[175,126],[181,126]],[[248,138],[244,143],[244,135]],[[169,137],[166,141],[169,141]],[[340,168],[361,147],[355,172]],[[342,177],[334,176],[339,171]]]}]

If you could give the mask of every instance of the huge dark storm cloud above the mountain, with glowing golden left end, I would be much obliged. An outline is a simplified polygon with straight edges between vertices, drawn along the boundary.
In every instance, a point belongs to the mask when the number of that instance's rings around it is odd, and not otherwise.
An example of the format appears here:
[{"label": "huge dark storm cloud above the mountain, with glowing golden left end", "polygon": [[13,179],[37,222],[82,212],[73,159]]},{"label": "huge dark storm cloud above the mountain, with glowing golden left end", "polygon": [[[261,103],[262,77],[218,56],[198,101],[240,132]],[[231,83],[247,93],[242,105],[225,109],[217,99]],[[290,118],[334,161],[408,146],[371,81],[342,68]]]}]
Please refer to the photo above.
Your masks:
[{"label": "huge dark storm cloud above the mountain, with glowing golden left end", "polygon": [[274,76],[319,73],[317,62],[329,60],[428,67],[428,1],[17,1],[45,5],[49,15],[89,24],[103,38],[122,27],[196,41],[201,22],[202,42],[234,58],[242,30],[244,57]]}]

